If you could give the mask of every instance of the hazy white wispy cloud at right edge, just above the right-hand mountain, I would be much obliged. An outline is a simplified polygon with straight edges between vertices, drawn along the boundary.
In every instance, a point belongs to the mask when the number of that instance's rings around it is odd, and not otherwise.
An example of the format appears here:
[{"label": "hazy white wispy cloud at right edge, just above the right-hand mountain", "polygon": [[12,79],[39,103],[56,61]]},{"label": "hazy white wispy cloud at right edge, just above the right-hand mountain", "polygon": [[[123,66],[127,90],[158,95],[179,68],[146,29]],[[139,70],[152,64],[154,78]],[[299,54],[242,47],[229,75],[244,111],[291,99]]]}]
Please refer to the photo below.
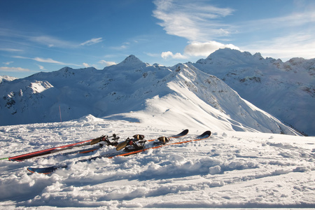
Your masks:
[{"label": "hazy white wispy cloud at right edge, just above the right-hand mountain", "polygon": [[[244,33],[255,33],[259,38],[241,48],[260,52],[265,57],[286,61],[292,57],[315,57],[315,10],[292,13],[277,18],[246,21],[239,24]],[[259,32],[272,36],[259,36]]]}]

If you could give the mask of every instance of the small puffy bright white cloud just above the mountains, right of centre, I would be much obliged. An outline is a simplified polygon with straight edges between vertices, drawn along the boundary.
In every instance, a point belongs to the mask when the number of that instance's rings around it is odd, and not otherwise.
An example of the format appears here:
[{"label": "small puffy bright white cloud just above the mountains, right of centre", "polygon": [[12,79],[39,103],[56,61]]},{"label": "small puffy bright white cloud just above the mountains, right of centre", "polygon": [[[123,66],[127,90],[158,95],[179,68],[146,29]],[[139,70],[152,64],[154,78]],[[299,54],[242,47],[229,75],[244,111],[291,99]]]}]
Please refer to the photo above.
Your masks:
[{"label": "small puffy bright white cloud just above the mountains, right of centre", "polygon": [[208,41],[208,42],[193,42],[186,46],[184,50],[184,55],[189,56],[208,56],[212,52],[220,49],[220,48],[231,48],[235,50],[239,50],[239,48],[235,45],[228,44],[225,45],[223,43],[219,43],[216,41]]}]

